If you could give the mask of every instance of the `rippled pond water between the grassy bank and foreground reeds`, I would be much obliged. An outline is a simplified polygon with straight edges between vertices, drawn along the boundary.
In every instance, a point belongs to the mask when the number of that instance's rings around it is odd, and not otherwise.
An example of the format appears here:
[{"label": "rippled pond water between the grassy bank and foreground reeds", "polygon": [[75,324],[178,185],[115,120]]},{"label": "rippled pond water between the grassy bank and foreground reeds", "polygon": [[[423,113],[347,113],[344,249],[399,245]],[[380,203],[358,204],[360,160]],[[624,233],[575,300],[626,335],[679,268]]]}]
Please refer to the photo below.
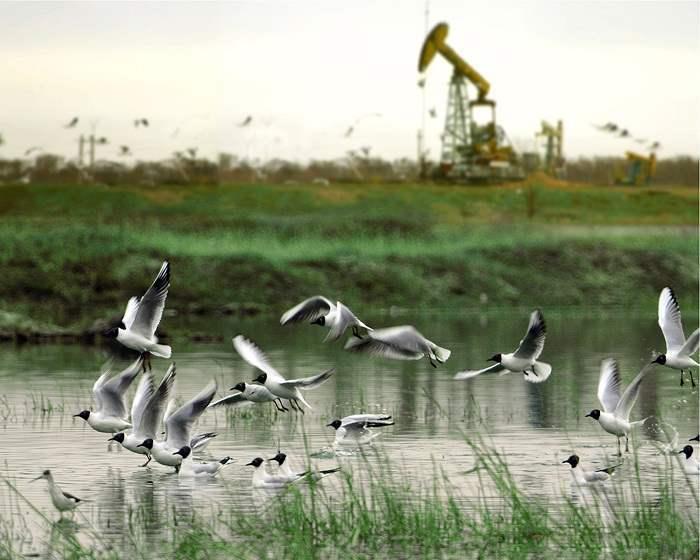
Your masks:
[{"label": "rippled pond water between the grassy bank and foreground reeds", "polygon": [[[166,318],[178,330],[221,336],[214,343],[171,341],[177,362],[177,393],[189,398],[210,378],[219,385],[218,396],[256,373],[234,353],[230,338],[244,333],[268,354],[287,377],[300,377],[335,366],[336,374],[315,391],[306,393],[314,407],[305,416],[275,415],[272,405],[240,416],[210,411],[196,431],[214,430],[219,436],[209,455],[231,455],[236,463],[220,478],[183,483],[171,469],[152,463],[139,468],[142,456],[120,448],[107,450],[105,434],[93,432],[72,414],[91,406],[91,386],[105,349],[78,345],[0,346],[0,437],[2,474],[11,480],[41,512],[55,519],[46,483],[29,483],[50,468],[64,490],[86,502],[79,511],[80,525],[72,530],[82,540],[98,534],[103,544],[117,550],[132,543],[130,523],[147,535],[161,535],[173,511],[186,517],[193,511],[214,515],[226,509],[244,514],[257,507],[250,487],[254,457],[272,457],[278,444],[300,468],[307,455],[321,468],[341,464],[366,479],[363,461],[388,461],[390,469],[410,476],[416,485],[429,483],[435,467],[465,498],[476,495],[477,477],[465,474],[474,456],[463,433],[479,434],[507,458],[515,479],[533,496],[561,499],[570,481],[569,466],[561,462],[571,453],[587,468],[617,463],[616,442],[597,422],[584,415],[599,408],[595,397],[601,359],[618,359],[623,384],[660,349],[663,339],[653,316],[585,315],[567,310],[547,313],[549,336],[542,356],[554,372],[541,385],[520,375],[484,376],[454,381],[460,369],[475,369],[487,357],[509,351],[527,324],[527,312],[492,315],[403,315],[372,317],[371,324],[413,323],[426,336],[453,350],[449,362],[433,369],[420,362],[395,362],[348,354],[339,344],[322,344],[317,327],[279,326],[276,320],[221,318],[193,320]],[[687,329],[690,331],[690,329]],[[119,358],[126,365],[128,358]],[[153,360],[158,376],[164,360]],[[136,384],[134,384],[135,386]],[[44,409],[44,410],[42,410]],[[366,458],[336,456],[333,430],[325,427],[336,417],[357,412],[394,416],[396,425],[382,430]],[[698,432],[698,392],[689,384],[679,387],[677,372],[659,367],[642,385],[633,418],[655,416],[678,430],[684,442]],[[653,496],[664,457],[657,455],[655,422],[639,431],[635,445],[641,460],[645,489]],[[620,480],[632,475],[623,470]],[[330,487],[335,484],[324,480]],[[616,482],[619,484],[619,482]],[[234,490],[234,491],[231,491]],[[692,502],[689,502],[689,507]],[[0,486],[0,516],[12,521],[23,535],[22,550],[41,554],[42,520],[38,513]]]}]

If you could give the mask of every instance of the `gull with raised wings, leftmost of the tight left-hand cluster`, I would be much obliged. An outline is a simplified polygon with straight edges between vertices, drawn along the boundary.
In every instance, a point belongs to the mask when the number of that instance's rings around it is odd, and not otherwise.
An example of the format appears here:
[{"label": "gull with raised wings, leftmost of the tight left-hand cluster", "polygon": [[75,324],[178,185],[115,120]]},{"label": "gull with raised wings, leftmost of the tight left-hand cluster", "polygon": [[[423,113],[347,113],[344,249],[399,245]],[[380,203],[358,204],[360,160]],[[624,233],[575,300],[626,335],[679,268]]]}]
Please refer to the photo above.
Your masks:
[{"label": "gull with raised wings, leftmost of the tight left-hand cluster", "polygon": [[83,410],[74,414],[73,418],[82,418],[93,430],[105,434],[114,434],[131,428],[131,424],[126,420],[124,394],[141,371],[141,364],[142,359],[139,357],[114,377],[109,369],[105,371],[92,386],[97,410],[93,412]]}]

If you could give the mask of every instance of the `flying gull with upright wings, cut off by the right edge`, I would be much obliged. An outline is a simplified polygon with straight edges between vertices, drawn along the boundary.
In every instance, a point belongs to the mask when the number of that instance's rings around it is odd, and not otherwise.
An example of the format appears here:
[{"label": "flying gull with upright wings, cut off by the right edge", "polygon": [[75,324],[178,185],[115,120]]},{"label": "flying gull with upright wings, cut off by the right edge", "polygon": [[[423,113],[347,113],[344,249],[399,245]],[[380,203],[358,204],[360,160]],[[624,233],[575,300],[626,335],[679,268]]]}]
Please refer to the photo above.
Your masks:
[{"label": "flying gull with upright wings, cut off by the right edge", "polygon": [[666,339],[666,353],[659,354],[652,362],[661,364],[681,372],[681,386],[683,385],[683,370],[690,373],[690,382],[695,387],[693,371],[690,368],[700,367],[700,364],[691,356],[698,351],[700,343],[700,329],[695,329],[687,339],[683,333],[681,323],[681,308],[673,290],[669,287],[661,290],[659,296],[659,326]]}]

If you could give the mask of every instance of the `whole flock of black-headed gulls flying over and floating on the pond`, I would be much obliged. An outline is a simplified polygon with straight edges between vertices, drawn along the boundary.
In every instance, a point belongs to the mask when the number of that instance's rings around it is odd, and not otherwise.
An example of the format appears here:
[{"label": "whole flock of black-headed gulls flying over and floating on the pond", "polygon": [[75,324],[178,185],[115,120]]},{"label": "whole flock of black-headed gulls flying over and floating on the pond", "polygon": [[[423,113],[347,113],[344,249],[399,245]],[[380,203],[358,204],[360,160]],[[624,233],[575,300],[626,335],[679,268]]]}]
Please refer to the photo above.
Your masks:
[{"label": "whole flock of black-headed gulls flying over and floating on the pond", "polygon": [[[242,335],[233,338],[236,352],[259,375],[251,382],[240,382],[231,388],[234,391],[214,401],[217,391],[215,381],[207,385],[189,401],[181,406],[171,398],[176,377],[176,367],[172,363],[158,384],[155,383],[151,356],[169,359],[170,346],[160,344],[156,329],[163,316],[165,301],[170,287],[170,265],[166,261],[160,268],[155,280],[141,297],[132,297],[126,306],[124,316],[119,324],[106,331],[107,337],[116,339],[126,348],[139,353],[139,357],[122,372],[114,375],[109,370],[100,375],[93,386],[94,410],[83,410],[75,417],[82,418],[96,432],[110,434],[110,442],[117,442],[125,449],[143,455],[146,458],[142,466],[152,460],[166,467],[173,467],[180,477],[216,476],[233,459],[223,457],[218,461],[194,461],[194,455],[200,453],[216,436],[213,432],[192,434],[194,423],[209,408],[241,407],[272,403],[278,411],[304,413],[304,408],[311,405],[304,397],[306,391],[316,389],[334,373],[333,369],[309,377],[286,379],[277,371],[265,354],[251,340]],[[698,351],[700,329],[685,337],[681,323],[678,301],[671,288],[664,288],[659,297],[658,321],[666,341],[666,352],[658,354],[647,364],[622,391],[620,371],[614,359],[606,359],[601,364],[597,396],[601,409],[594,409],[587,417],[598,421],[600,427],[616,436],[618,455],[621,456],[620,440],[625,438],[625,451],[629,451],[629,436],[632,430],[647,419],[630,421],[630,413],[639,395],[645,377],[656,365],[680,371],[680,384],[684,384],[683,374],[690,373],[690,380],[695,386],[691,368],[699,367],[692,356]],[[323,296],[311,297],[286,311],[280,318],[282,325],[307,322],[328,329],[326,341],[337,341],[346,332],[349,337],[345,349],[396,360],[427,359],[433,367],[444,364],[450,357],[450,350],[442,348],[424,337],[410,325],[373,329],[362,322],[347,306],[341,302],[333,303]],[[547,328],[540,310],[530,315],[525,336],[518,347],[511,353],[494,354],[489,361],[494,364],[480,370],[462,371],[455,379],[472,379],[480,375],[508,373],[522,374],[530,383],[542,383],[552,374],[552,366],[540,361],[544,350]],[[131,405],[131,415],[127,413],[125,394],[132,382],[142,373]],[[161,432],[161,423],[165,431]],[[383,414],[354,414],[335,419],[327,427],[335,430],[334,447],[349,446],[357,448],[370,444],[378,435],[373,428],[393,425],[392,417]],[[159,435],[163,435],[159,439]],[[691,441],[698,441],[700,436]],[[673,452],[685,455],[684,469],[689,474],[700,472],[700,463],[693,456],[693,447],[686,445],[676,451],[677,442],[673,442]],[[110,445],[112,445],[110,443]],[[670,451],[670,449],[668,450]],[[320,479],[339,470],[314,468],[299,472],[292,469],[287,456],[278,453],[265,460],[255,457],[246,466],[254,469],[252,484],[255,488],[283,488],[289,484],[308,479]],[[608,480],[614,467],[586,472],[578,467],[579,457],[571,455],[564,463],[571,465],[572,473],[578,484],[591,484]],[[49,483],[49,491],[54,506],[61,512],[74,509],[79,498],[62,492],[50,471],[46,470],[38,477]],[[36,479],[35,479],[36,480]]]}]

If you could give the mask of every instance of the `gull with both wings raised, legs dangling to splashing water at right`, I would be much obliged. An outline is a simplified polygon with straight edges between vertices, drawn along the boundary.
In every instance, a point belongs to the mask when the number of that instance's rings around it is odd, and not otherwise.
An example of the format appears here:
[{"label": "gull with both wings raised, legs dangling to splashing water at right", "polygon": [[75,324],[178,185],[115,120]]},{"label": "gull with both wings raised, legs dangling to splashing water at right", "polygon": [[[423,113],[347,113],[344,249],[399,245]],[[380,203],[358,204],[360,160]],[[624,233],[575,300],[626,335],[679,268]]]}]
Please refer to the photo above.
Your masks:
[{"label": "gull with both wings raised, legs dangling to splashing water at right", "polygon": [[646,374],[651,371],[650,366],[646,366],[637,374],[632,382],[627,386],[625,392],[621,392],[622,381],[620,380],[620,370],[617,362],[612,358],[603,360],[600,364],[600,379],[598,380],[598,400],[603,405],[603,410],[594,409],[586,414],[586,418],[598,420],[600,427],[609,434],[617,436],[617,454],[622,456],[620,451],[620,438],[625,436],[625,452],[629,452],[629,433],[632,428],[641,426],[646,422],[646,418],[636,422],[630,422],[630,412],[639,395],[639,388]]}]

